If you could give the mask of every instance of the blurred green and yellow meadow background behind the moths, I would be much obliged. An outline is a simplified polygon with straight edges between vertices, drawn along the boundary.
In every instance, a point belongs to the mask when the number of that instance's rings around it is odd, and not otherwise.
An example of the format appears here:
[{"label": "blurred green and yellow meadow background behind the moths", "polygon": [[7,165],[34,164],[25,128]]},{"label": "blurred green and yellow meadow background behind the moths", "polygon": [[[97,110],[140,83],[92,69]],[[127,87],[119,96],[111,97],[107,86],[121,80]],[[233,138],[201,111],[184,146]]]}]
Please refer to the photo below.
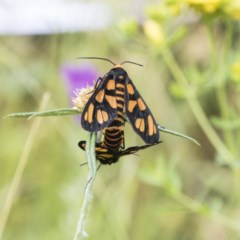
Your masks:
[{"label": "blurred green and yellow meadow background behind the moths", "polygon": [[[2,0],[0,238],[73,238],[88,174],[80,118],[3,117],[72,107],[75,88],[112,67],[76,59],[96,56],[143,64],[125,68],[156,121],[201,147],[161,133],[102,166],[89,239],[240,239],[239,19],[238,0]],[[144,144],[129,124],[125,138]]]}]

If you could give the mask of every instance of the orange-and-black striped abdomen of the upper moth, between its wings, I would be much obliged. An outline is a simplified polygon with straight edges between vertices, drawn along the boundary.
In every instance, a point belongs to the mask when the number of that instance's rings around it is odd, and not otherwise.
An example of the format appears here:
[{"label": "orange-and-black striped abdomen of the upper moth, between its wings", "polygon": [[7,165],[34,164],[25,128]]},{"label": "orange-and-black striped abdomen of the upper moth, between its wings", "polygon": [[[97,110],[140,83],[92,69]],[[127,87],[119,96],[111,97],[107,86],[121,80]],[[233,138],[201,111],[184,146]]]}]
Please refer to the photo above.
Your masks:
[{"label": "orange-and-black striped abdomen of the upper moth, between its wings", "polygon": [[124,81],[122,74],[116,76],[115,96],[117,100],[117,116],[111,124],[105,129],[103,147],[113,150],[124,149]]}]

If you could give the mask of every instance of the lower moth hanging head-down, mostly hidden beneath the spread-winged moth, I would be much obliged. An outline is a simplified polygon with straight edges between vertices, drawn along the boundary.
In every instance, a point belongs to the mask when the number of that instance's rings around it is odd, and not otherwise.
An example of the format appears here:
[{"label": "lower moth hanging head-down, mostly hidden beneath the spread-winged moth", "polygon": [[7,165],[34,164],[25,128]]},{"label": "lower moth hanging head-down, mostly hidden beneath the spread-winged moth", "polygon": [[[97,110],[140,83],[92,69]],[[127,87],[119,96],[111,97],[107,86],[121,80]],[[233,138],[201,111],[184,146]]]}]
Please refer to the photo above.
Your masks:
[{"label": "lower moth hanging head-down, mostly hidden beneath the spread-winged moth", "polygon": [[[120,157],[123,156],[127,156],[130,154],[134,154],[136,152],[138,152],[139,150],[143,150],[149,147],[152,147],[154,145],[157,145],[161,142],[156,142],[154,144],[150,144],[150,145],[143,145],[143,146],[134,146],[134,147],[129,147],[125,150],[115,150],[115,149],[111,149],[111,148],[106,148],[102,146],[102,143],[96,143],[96,147],[95,147],[95,154],[96,154],[96,158],[99,160],[99,162],[103,165],[107,165],[107,164],[112,164],[112,163],[116,163]],[[85,151],[86,149],[86,141],[80,141],[78,143],[78,146]]]}]

